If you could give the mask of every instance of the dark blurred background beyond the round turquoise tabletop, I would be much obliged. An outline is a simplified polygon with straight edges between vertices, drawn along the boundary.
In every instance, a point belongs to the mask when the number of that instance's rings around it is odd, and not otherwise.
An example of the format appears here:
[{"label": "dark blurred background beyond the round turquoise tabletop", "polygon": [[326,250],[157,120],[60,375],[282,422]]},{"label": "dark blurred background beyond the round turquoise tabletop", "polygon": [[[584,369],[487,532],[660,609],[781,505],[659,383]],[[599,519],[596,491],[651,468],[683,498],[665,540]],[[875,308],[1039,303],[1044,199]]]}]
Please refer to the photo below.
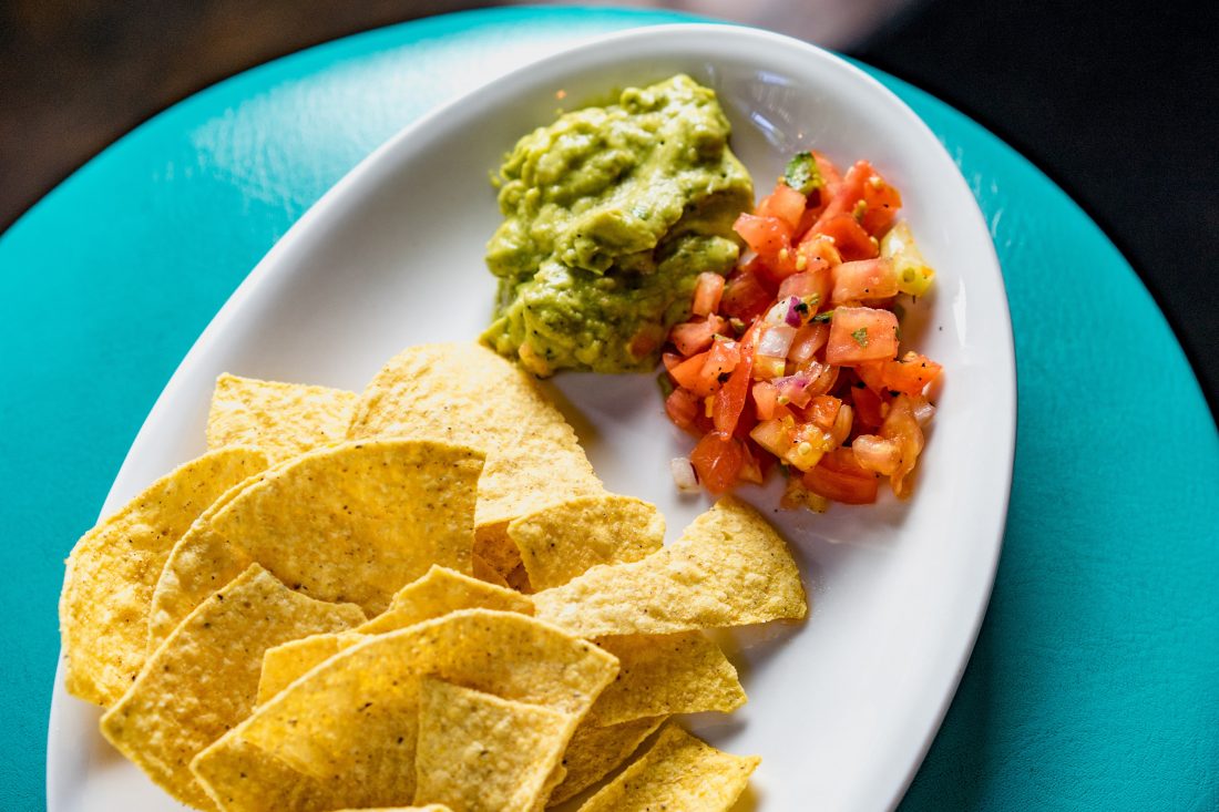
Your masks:
[{"label": "dark blurred background beyond the round turquoise tabletop", "polygon": [[[808,13],[808,0],[790,2],[786,23],[774,0],[764,22],[818,40],[828,28]],[[227,76],[345,34],[485,5],[0,0],[0,228],[140,121]],[[897,4],[875,5],[887,13]],[[872,33],[822,44],[961,109],[1062,185],[1140,273],[1215,413],[1217,30],[1219,4],[1203,0],[914,0]],[[1120,313],[1112,324],[1109,335],[1072,340],[1101,341],[1117,354],[1139,340],[1139,324]],[[1069,326],[1046,328],[1072,335]],[[1129,376],[1136,408],[1152,393],[1139,390],[1142,371]]]}]

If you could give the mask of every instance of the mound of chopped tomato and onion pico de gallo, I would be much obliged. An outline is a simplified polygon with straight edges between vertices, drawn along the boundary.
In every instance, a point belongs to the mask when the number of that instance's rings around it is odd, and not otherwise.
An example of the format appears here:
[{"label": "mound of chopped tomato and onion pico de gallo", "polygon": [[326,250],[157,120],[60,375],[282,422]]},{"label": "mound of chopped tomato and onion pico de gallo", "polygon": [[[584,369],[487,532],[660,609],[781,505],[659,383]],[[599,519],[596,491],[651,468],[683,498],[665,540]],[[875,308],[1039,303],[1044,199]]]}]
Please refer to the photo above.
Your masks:
[{"label": "mound of chopped tomato and onion pico de gallo", "polygon": [[811,151],[736,219],[750,251],[698,277],[663,354],[666,412],[698,438],[673,461],[679,486],[719,494],[778,466],[785,507],[870,504],[881,478],[911,495],[941,366],[900,355],[898,295],[935,276],[901,204],[869,162],[841,173]]}]

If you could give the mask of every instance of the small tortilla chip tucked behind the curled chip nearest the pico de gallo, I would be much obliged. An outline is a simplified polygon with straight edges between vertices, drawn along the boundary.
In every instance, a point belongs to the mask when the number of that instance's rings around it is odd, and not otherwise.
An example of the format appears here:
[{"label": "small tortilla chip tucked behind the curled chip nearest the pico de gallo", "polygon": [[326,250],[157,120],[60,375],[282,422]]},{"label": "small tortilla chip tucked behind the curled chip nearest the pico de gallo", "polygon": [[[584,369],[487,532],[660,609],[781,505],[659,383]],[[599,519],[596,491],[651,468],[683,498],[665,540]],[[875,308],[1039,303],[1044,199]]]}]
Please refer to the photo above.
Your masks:
[{"label": "small tortilla chip tucked behind the curled chip nearest the pico de gallo", "polygon": [[507,527],[534,590],[562,586],[596,564],[629,563],[664,543],[664,517],[633,496],[572,499]]}]

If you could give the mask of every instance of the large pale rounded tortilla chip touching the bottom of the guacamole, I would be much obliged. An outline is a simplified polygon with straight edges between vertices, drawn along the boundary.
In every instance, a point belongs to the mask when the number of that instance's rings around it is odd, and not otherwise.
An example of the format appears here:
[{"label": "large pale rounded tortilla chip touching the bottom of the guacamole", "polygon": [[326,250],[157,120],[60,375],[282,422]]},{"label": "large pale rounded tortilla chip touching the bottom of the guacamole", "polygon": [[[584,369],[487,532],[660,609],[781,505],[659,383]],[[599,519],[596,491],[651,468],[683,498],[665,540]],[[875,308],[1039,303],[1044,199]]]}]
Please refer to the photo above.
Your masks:
[{"label": "large pale rounded tortilla chip touching the bottom of the guacamole", "polygon": [[361,395],[347,436],[484,449],[479,528],[603,493],[575,432],[530,377],[473,343],[412,346],[390,360]]}]

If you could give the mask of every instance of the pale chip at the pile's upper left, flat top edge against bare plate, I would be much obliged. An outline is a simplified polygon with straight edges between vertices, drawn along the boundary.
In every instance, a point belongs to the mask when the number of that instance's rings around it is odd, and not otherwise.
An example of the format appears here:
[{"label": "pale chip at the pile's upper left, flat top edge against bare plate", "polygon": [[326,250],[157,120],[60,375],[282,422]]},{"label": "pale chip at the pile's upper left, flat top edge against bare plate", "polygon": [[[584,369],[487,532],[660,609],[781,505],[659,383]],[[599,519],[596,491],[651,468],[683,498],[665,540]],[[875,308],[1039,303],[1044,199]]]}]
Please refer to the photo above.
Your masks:
[{"label": "pale chip at the pile's upper left, flat top edge against bare plate", "polygon": [[207,447],[249,445],[275,462],[343,443],[357,395],[343,389],[238,378],[216,379]]}]

